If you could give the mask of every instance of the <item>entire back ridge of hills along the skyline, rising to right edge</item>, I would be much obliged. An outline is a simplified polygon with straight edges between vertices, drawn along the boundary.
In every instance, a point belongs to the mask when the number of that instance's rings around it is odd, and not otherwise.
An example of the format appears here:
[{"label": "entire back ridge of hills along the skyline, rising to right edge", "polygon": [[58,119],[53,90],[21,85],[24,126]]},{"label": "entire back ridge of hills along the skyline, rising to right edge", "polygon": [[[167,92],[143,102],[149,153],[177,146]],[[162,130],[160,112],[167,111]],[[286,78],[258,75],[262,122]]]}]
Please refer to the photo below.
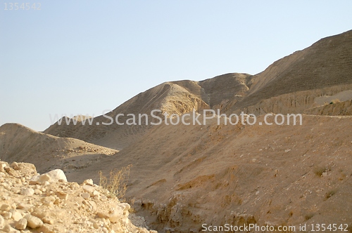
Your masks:
[{"label": "entire back ridge of hills along the skyline, rising to right edge", "polygon": [[[184,114],[192,109],[221,109],[221,112],[303,113],[323,104],[315,98],[352,90],[352,31],[321,39],[312,46],[277,60],[260,74],[224,74],[204,81],[172,81],[153,87],[127,100],[106,116],[125,122],[127,114],[149,114],[161,109]],[[349,95],[347,100],[351,100]],[[346,101],[346,100],[342,100]],[[312,111],[310,111],[312,112]],[[97,116],[92,125],[72,122],[50,126],[44,131],[59,137],[122,149],[138,140],[149,126],[104,126],[111,122]],[[144,121],[142,121],[144,122]],[[99,125],[97,125],[99,124]]]}]

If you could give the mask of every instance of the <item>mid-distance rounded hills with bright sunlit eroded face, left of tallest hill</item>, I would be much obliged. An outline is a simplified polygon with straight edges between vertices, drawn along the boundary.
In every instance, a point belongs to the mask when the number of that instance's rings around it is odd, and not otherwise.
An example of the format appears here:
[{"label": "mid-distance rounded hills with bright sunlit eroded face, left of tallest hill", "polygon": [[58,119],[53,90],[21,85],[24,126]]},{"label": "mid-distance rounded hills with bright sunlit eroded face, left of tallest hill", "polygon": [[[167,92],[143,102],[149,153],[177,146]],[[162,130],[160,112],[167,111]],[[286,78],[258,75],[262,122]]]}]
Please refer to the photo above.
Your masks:
[{"label": "mid-distance rounded hills with bright sunlit eroded face, left of tallest hill", "polygon": [[[252,83],[249,74],[224,74],[213,79],[205,81],[173,81],[160,84],[144,93],[134,96],[122,105],[117,107],[106,116],[97,116],[94,118],[92,125],[77,124],[56,124],[47,128],[44,133],[56,135],[58,137],[78,138],[86,142],[92,142],[97,145],[103,145],[115,149],[122,149],[137,140],[144,134],[149,126],[145,123],[142,126],[120,126],[116,124],[115,117],[118,114],[120,123],[126,122],[130,116],[127,114],[148,114],[150,116],[153,109],[160,109],[162,115],[164,112],[168,114],[184,114],[191,112],[192,109],[200,111],[202,109],[221,107],[224,103],[237,98],[237,95],[243,95],[249,91]],[[108,124],[111,119],[114,123]],[[151,119],[151,116],[149,117]],[[86,121],[87,122],[87,121]],[[142,122],[145,122],[144,119]],[[99,125],[97,125],[99,123]],[[137,121],[138,124],[138,121]]]}]

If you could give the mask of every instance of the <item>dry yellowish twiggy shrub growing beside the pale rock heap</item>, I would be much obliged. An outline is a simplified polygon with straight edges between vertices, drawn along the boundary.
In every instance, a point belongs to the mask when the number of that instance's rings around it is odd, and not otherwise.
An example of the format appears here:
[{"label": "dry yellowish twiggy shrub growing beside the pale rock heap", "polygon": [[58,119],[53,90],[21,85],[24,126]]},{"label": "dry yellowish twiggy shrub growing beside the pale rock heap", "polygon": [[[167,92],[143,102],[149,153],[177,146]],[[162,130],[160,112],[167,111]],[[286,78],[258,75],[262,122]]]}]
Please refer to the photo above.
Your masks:
[{"label": "dry yellowish twiggy shrub growing beside the pale rock heap", "polygon": [[120,170],[114,169],[110,171],[110,177],[107,178],[101,171],[99,171],[99,185],[104,189],[108,189],[111,195],[122,199],[127,190],[127,182],[130,176],[130,168],[132,165],[121,168]]}]

